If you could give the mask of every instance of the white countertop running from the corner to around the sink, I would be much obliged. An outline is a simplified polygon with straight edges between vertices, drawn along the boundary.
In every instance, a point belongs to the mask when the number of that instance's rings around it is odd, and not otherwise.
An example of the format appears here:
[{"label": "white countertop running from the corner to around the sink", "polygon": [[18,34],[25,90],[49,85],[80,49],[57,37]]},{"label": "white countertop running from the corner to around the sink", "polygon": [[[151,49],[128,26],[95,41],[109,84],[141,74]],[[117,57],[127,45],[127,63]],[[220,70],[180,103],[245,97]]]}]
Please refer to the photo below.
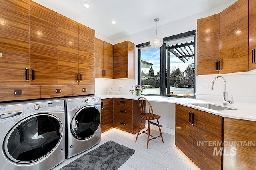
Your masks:
[{"label": "white countertop running from the corner to around the sink", "polygon": [[[134,99],[134,100],[138,99],[138,97],[136,97],[135,95],[100,95],[100,97],[101,99],[106,99],[106,98],[124,98],[124,99]],[[256,111],[254,111],[254,107],[256,106],[255,103],[235,102],[234,104],[230,104],[230,106],[224,106],[224,107],[230,107],[236,110],[212,110],[204,107],[195,106],[192,104],[212,103],[219,106],[223,106],[222,101],[197,100],[192,98],[173,98],[173,97],[164,97],[164,96],[143,96],[143,97],[147,98],[149,101],[152,101],[152,102],[166,102],[166,103],[181,104],[184,106],[206,111],[208,113],[212,113],[222,117],[256,121]]]}]

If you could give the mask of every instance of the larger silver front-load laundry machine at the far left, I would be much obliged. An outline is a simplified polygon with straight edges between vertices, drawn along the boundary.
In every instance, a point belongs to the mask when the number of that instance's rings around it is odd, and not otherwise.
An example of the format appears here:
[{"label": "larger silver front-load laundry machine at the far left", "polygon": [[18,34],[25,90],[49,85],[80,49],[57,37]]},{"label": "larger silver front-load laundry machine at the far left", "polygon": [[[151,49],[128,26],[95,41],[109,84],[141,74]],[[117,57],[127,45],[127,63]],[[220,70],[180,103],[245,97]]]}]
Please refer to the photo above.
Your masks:
[{"label": "larger silver front-load laundry machine at the far left", "polygon": [[49,170],[65,160],[64,100],[0,104],[0,169]]}]

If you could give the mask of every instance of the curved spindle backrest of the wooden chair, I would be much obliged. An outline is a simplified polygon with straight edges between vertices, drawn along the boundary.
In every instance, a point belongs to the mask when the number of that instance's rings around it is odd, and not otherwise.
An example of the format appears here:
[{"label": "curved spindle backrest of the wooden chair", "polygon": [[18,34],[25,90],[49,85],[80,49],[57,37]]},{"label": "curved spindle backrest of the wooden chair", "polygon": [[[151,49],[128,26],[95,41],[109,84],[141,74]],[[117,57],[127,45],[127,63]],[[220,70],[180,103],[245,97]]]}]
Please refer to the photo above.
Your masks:
[{"label": "curved spindle backrest of the wooden chair", "polygon": [[148,99],[144,97],[139,97],[138,105],[140,107],[142,117],[150,118],[150,115],[152,115],[152,118],[154,119],[153,108]]}]

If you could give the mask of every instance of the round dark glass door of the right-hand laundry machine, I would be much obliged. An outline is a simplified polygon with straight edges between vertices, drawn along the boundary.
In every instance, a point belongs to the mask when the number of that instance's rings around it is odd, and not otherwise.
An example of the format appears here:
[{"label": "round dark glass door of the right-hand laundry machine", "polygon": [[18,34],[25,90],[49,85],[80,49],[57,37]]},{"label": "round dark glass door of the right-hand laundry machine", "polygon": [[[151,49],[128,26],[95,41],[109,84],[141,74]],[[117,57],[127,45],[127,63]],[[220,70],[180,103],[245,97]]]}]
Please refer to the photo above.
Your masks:
[{"label": "round dark glass door of the right-hand laundry machine", "polygon": [[100,112],[94,106],[86,106],[76,112],[71,121],[71,132],[76,139],[88,139],[100,126]]}]

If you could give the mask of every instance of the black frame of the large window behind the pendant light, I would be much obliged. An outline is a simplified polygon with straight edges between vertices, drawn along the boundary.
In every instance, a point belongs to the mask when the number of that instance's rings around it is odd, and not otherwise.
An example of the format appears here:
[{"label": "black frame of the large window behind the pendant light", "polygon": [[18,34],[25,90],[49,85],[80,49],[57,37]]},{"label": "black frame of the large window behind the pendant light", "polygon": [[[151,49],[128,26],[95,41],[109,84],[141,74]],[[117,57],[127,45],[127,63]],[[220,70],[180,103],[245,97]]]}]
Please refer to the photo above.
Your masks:
[{"label": "black frame of the large window behind the pendant light", "polygon": [[[166,95],[166,42],[174,39],[180,39],[184,37],[194,36],[194,95],[193,96],[170,96]],[[166,97],[176,97],[176,98],[196,98],[196,30],[188,31],[185,33],[180,33],[177,35],[172,35],[165,37],[162,47],[160,47],[160,95],[157,94],[144,94],[147,96],[166,96]],[[141,84],[141,49],[144,47],[149,47],[150,42],[142,43],[136,45],[138,48],[138,84]],[[163,74],[164,73],[164,74]],[[142,94],[143,95],[143,94]]]}]

